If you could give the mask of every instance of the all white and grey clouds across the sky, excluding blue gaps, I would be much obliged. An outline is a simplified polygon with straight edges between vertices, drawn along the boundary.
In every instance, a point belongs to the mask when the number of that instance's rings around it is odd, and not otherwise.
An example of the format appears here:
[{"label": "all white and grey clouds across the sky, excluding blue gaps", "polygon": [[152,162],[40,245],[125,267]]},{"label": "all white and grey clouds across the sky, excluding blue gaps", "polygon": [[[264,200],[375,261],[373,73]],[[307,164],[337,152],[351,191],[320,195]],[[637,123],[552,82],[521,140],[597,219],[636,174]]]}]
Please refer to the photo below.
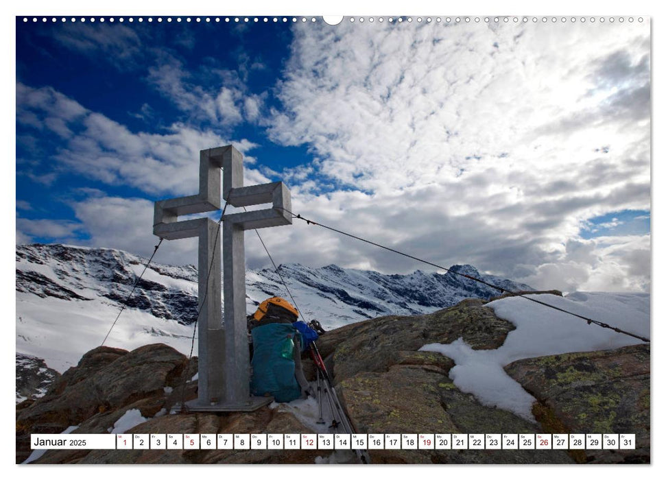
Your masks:
[{"label": "all white and grey clouds across the sky, excluding blue gaps", "polygon": [[[112,47],[88,33],[69,47]],[[246,184],[285,179],[297,213],[534,287],[649,288],[647,232],[580,238],[594,217],[650,211],[649,25],[317,23],[293,33],[270,93],[278,103],[228,72],[219,88],[198,85],[180,60],[161,56],[146,80],[185,116],[160,134],[132,132],[53,88],[17,84],[17,121],[63,142],[51,170],[25,165],[23,174],[47,182],[73,171],[152,197],[191,195],[199,150],[230,143],[220,125],[227,132],[246,119],[313,154],[278,172],[246,166]],[[114,41],[142,40],[120,31]],[[90,195],[71,207],[80,223],[45,228],[152,251],[152,199]],[[39,228],[20,227],[21,239]],[[420,267],[298,221],[262,235],[278,262]],[[261,245],[247,239],[248,265],[265,266]],[[171,242],[161,261],[194,261],[194,245]]]}]

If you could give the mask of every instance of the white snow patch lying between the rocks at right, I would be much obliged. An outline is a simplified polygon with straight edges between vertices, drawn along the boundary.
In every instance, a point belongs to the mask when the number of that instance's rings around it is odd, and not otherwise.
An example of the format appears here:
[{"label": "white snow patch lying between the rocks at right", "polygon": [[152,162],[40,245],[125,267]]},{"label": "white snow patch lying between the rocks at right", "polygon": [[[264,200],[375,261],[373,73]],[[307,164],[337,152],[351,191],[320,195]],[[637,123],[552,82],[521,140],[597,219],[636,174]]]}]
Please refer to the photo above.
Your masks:
[{"label": "white snow patch lying between the rocks at right", "polygon": [[[650,338],[650,294],[575,292],[562,298],[530,296],[542,302],[617,326]],[[462,338],[451,344],[427,344],[420,350],[439,352],[455,361],[449,372],[453,383],[473,394],[484,405],[516,413],[534,422],[534,397],[525,392],[503,367],[512,361],[569,352],[610,350],[641,344],[623,335],[521,297],[486,304],[495,314],[516,326],[496,350],[473,350]]]}]

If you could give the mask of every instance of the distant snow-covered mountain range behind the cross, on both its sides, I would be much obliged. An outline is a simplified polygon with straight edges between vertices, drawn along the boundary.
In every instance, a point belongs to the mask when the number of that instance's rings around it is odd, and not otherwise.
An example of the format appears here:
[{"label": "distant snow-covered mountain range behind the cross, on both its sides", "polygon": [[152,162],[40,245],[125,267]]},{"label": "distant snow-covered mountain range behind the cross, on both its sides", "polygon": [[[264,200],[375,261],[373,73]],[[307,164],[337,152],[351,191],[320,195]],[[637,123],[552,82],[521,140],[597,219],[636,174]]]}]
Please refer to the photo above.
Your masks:
[{"label": "distant snow-covered mountain range behind the cross, on both its sides", "polygon": [[[156,256],[159,261],[159,254]],[[16,352],[45,359],[59,372],[102,344],[146,260],[105,248],[71,245],[16,247]],[[305,320],[336,328],[381,315],[414,315],[463,298],[490,298],[495,289],[447,272],[385,275],[336,265],[279,267]],[[481,274],[471,265],[451,269],[500,287],[527,285]],[[289,299],[272,269],[248,270],[248,313],[269,296]],[[189,354],[197,311],[197,269],[151,263],[106,345],[133,349],[161,342]],[[196,342],[194,355],[197,354]]]}]

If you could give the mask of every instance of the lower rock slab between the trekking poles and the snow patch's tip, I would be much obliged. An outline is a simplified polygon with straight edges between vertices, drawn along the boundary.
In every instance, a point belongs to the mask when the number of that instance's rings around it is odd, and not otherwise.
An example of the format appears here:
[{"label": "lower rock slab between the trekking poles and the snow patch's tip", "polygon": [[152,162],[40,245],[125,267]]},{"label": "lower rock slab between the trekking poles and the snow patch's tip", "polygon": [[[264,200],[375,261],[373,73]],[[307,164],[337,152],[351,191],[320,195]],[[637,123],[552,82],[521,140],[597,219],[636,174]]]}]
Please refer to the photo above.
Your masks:
[{"label": "lower rock slab between the trekking poles and the snow patch's tip", "polygon": [[[542,431],[508,411],[479,404],[472,395],[460,392],[444,370],[431,365],[393,365],[388,372],[357,374],[342,381],[339,389],[355,427],[364,433]],[[370,454],[373,463],[391,464],[573,463],[564,451],[379,450]]]}]

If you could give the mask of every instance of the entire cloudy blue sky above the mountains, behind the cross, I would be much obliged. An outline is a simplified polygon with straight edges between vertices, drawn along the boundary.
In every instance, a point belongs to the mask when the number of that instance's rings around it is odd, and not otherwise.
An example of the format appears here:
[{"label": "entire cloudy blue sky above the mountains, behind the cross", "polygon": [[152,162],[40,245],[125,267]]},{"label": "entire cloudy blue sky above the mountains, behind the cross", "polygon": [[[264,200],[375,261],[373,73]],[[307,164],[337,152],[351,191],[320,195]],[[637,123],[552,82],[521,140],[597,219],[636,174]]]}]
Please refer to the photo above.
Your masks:
[{"label": "entire cloudy blue sky above the mountains, behind the cross", "polygon": [[[198,152],[233,143],[246,184],[439,265],[650,288],[647,19],[186,18],[17,19],[17,243],[150,255],[154,201],[196,193]],[[261,233],[278,263],[430,269],[300,221]],[[195,240],[156,261],[195,262]]]}]

